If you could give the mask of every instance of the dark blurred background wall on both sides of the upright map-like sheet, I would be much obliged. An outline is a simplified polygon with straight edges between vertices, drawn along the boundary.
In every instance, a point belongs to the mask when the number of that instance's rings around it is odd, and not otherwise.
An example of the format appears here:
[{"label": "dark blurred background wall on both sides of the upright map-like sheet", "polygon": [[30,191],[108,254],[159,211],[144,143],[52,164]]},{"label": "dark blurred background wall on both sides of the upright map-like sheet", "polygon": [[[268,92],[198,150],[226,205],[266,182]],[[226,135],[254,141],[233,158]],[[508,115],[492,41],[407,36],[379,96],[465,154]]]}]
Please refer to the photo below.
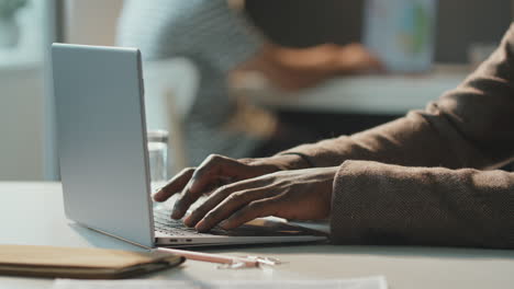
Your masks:
[{"label": "dark blurred background wall on both sides of the upright map-like sheet", "polygon": [[[303,47],[361,38],[365,0],[247,0],[247,11],[277,43]],[[512,22],[511,0],[439,0],[436,61],[467,61],[472,43],[498,43]]]}]

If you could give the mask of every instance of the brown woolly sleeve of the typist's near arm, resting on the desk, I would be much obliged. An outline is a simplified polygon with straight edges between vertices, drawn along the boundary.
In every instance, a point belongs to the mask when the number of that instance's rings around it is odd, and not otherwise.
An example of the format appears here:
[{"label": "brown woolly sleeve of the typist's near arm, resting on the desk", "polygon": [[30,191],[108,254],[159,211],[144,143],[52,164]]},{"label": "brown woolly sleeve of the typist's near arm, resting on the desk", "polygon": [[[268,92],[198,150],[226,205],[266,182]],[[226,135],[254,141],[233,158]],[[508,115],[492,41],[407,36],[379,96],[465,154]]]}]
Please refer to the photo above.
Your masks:
[{"label": "brown woolly sleeve of the typist's near arm, resting on the desk", "polygon": [[514,173],[346,161],[332,241],[514,248]]}]

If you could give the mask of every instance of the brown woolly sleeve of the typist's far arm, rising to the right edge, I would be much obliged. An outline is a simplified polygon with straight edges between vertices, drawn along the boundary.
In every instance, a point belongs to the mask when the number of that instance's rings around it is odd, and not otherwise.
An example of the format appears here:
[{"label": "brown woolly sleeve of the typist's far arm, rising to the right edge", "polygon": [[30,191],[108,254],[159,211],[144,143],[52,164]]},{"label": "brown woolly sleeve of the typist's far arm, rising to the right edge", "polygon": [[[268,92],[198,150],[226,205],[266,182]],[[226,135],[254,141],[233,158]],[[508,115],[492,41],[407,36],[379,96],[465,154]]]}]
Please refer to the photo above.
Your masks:
[{"label": "brown woolly sleeve of the typist's far arm, rising to the right edge", "polygon": [[457,89],[370,130],[286,152],[315,166],[370,160],[406,166],[494,169],[514,160],[514,26]]}]

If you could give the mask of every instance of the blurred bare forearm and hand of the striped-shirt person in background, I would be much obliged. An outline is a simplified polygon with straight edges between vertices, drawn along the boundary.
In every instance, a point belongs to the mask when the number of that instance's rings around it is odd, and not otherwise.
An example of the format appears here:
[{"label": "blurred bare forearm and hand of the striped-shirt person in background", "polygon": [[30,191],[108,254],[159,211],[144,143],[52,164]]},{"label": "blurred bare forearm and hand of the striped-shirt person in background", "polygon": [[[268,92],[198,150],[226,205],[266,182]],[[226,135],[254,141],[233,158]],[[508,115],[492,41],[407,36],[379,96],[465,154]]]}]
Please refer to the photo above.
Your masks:
[{"label": "blurred bare forearm and hand of the striped-shirt person in background", "polygon": [[323,44],[289,48],[266,43],[258,54],[231,74],[234,83],[244,81],[248,71],[260,71],[272,84],[286,91],[315,86],[335,76],[383,71],[381,61],[364,45]]}]

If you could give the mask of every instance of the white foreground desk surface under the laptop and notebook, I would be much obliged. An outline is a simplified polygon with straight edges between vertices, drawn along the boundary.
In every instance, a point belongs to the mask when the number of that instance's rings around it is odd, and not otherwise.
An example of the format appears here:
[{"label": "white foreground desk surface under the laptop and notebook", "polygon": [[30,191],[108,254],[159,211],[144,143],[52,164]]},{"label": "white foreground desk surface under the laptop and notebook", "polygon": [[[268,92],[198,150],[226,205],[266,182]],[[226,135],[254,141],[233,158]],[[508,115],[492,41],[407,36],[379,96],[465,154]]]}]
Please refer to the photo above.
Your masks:
[{"label": "white foreground desk surface under the laptop and notebook", "polygon": [[[99,246],[135,250],[77,227],[63,213],[58,183],[0,183],[0,243]],[[188,261],[148,276],[181,280],[322,279],[386,275],[390,288],[513,288],[514,251],[297,245],[215,250],[233,255],[275,256],[288,264],[270,268],[219,270]],[[0,288],[47,288],[49,279],[0,277]]]}]

